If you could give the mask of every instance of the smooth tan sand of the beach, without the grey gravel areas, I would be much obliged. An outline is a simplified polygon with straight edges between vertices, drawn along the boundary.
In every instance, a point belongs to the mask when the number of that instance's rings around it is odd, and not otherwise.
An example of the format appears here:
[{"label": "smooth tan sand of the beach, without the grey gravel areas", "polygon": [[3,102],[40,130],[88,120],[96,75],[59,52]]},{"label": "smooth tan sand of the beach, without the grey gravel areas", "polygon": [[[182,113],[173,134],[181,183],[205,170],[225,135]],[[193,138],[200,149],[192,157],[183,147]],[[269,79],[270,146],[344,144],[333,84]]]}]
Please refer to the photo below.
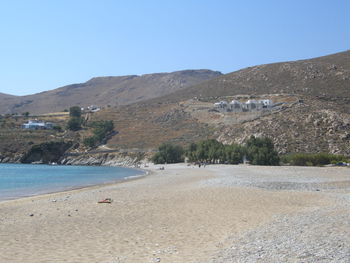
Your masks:
[{"label": "smooth tan sand of the beach, without the grey gravel areas", "polygon": [[[264,189],[230,178],[350,180],[347,168],[149,169],[138,180],[1,202],[0,262],[208,262],[232,236],[276,216],[331,207],[337,193]],[[97,203],[106,197],[114,202]]]}]

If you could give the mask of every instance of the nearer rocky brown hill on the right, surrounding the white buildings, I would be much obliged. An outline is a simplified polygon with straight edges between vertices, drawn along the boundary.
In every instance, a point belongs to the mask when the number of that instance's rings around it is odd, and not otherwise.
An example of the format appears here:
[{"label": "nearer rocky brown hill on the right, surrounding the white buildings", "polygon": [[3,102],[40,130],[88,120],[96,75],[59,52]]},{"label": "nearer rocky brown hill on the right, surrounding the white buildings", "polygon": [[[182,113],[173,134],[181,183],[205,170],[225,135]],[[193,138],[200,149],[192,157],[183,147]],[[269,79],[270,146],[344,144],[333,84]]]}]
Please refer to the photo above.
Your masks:
[{"label": "nearer rocky brown hill on the right, surrounding the white buildings", "polygon": [[[264,113],[222,113],[213,103],[271,99]],[[171,95],[95,115],[115,121],[114,148],[156,148],[205,138],[241,143],[251,135],[273,139],[280,153],[350,155],[350,51],[315,59],[254,66]]]}]

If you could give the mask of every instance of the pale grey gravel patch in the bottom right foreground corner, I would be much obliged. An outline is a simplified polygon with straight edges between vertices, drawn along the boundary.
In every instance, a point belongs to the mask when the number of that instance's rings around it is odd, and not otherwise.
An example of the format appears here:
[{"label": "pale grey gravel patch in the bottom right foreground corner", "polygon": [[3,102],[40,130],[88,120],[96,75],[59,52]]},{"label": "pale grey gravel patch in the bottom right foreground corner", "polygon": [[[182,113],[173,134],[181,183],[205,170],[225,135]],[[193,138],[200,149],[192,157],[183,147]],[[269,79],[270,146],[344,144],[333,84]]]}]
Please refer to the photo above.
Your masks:
[{"label": "pale grey gravel patch in the bottom right foreground corner", "polygon": [[230,238],[230,248],[210,263],[350,262],[350,207],[283,216]]}]

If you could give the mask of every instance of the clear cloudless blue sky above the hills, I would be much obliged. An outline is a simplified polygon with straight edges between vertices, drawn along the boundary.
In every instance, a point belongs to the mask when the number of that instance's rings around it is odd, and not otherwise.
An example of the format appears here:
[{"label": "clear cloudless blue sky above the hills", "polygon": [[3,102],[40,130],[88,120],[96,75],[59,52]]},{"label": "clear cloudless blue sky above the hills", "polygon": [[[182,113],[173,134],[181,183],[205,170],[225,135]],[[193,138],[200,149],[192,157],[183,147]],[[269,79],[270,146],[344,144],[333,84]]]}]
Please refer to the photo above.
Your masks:
[{"label": "clear cloudless blue sky above the hills", "polygon": [[350,49],[349,0],[0,0],[0,92]]}]

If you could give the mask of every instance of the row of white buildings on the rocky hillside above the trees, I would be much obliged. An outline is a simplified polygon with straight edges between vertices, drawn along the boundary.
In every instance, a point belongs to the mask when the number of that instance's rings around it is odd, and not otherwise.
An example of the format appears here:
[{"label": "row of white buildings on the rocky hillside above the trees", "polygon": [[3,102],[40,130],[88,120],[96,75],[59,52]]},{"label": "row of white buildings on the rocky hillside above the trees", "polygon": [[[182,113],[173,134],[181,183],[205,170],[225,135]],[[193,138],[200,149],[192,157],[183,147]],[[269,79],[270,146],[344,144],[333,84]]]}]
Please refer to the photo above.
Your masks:
[{"label": "row of white buildings on the rocky hillside above the trees", "polygon": [[273,107],[273,102],[272,100],[248,100],[246,102],[233,100],[230,103],[227,101],[219,101],[214,103],[214,107],[220,111],[260,111],[263,109],[271,109]]}]

